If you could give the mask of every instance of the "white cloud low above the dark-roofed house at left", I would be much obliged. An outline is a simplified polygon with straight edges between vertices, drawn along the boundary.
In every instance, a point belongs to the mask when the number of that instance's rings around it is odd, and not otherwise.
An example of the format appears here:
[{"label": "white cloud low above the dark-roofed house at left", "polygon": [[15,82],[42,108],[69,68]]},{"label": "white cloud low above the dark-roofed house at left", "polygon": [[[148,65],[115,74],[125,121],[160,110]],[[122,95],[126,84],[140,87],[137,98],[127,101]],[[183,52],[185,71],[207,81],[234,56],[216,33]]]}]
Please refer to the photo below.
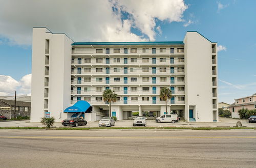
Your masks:
[{"label": "white cloud low above the dark-roofed house at left", "polygon": [[31,93],[31,74],[23,76],[19,81],[11,76],[0,75],[0,96]]}]

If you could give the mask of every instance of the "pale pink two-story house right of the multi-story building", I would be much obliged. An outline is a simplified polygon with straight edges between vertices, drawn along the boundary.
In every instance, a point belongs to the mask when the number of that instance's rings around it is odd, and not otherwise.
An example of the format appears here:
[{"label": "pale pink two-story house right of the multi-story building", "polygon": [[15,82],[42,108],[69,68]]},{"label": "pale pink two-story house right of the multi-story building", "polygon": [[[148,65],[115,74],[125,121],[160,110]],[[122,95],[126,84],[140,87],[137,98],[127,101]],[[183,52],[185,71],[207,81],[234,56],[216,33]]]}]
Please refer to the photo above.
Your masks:
[{"label": "pale pink two-story house right of the multi-story building", "polygon": [[251,96],[236,99],[236,101],[230,106],[228,106],[228,108],[232,114],[232,118],[239,118],[239,109],[256,109],[256,93]]}]

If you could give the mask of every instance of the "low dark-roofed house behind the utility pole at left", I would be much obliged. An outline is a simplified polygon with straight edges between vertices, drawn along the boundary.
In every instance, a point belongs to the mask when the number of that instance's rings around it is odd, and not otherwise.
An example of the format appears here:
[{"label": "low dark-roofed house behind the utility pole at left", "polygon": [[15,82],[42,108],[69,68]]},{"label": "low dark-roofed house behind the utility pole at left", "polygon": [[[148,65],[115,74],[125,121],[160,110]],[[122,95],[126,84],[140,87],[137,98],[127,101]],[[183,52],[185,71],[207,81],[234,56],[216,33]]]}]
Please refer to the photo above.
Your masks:
[{"label": "low dark-roofed house behind the utility pole at left", "polygon": [[[14,118],[14,101],[0,99],[0,114],[7,119]],[[16,101],[16,116],[30,117],[30,102]]]}]

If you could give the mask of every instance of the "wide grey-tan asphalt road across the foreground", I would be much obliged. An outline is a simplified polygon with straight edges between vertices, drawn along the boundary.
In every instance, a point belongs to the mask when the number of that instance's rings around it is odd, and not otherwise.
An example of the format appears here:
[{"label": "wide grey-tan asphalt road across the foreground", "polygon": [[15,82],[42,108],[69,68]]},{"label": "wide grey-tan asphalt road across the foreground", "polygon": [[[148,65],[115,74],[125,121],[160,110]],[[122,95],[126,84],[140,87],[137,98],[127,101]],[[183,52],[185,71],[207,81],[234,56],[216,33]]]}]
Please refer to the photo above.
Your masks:
[{"label": "wide grey-tan asphalt road across the foreground", "polygon": [[1,167],[255,167],[255,130],[0,130]]}]

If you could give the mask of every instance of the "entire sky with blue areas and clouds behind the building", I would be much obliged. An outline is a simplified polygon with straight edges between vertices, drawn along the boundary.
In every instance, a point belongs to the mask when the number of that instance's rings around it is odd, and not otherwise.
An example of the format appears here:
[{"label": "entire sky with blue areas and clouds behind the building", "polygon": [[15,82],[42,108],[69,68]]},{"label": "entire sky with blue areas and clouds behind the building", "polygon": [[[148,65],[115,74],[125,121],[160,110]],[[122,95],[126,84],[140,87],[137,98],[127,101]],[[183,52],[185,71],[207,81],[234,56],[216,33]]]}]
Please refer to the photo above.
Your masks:
[{"label": "entire sky with blue areas and clouds behind the building", "polygon": [[0,96],[31,93],[32,27],[75,42],[218,42],[219,102],[256,93],[256,1],[0,0]]}]

